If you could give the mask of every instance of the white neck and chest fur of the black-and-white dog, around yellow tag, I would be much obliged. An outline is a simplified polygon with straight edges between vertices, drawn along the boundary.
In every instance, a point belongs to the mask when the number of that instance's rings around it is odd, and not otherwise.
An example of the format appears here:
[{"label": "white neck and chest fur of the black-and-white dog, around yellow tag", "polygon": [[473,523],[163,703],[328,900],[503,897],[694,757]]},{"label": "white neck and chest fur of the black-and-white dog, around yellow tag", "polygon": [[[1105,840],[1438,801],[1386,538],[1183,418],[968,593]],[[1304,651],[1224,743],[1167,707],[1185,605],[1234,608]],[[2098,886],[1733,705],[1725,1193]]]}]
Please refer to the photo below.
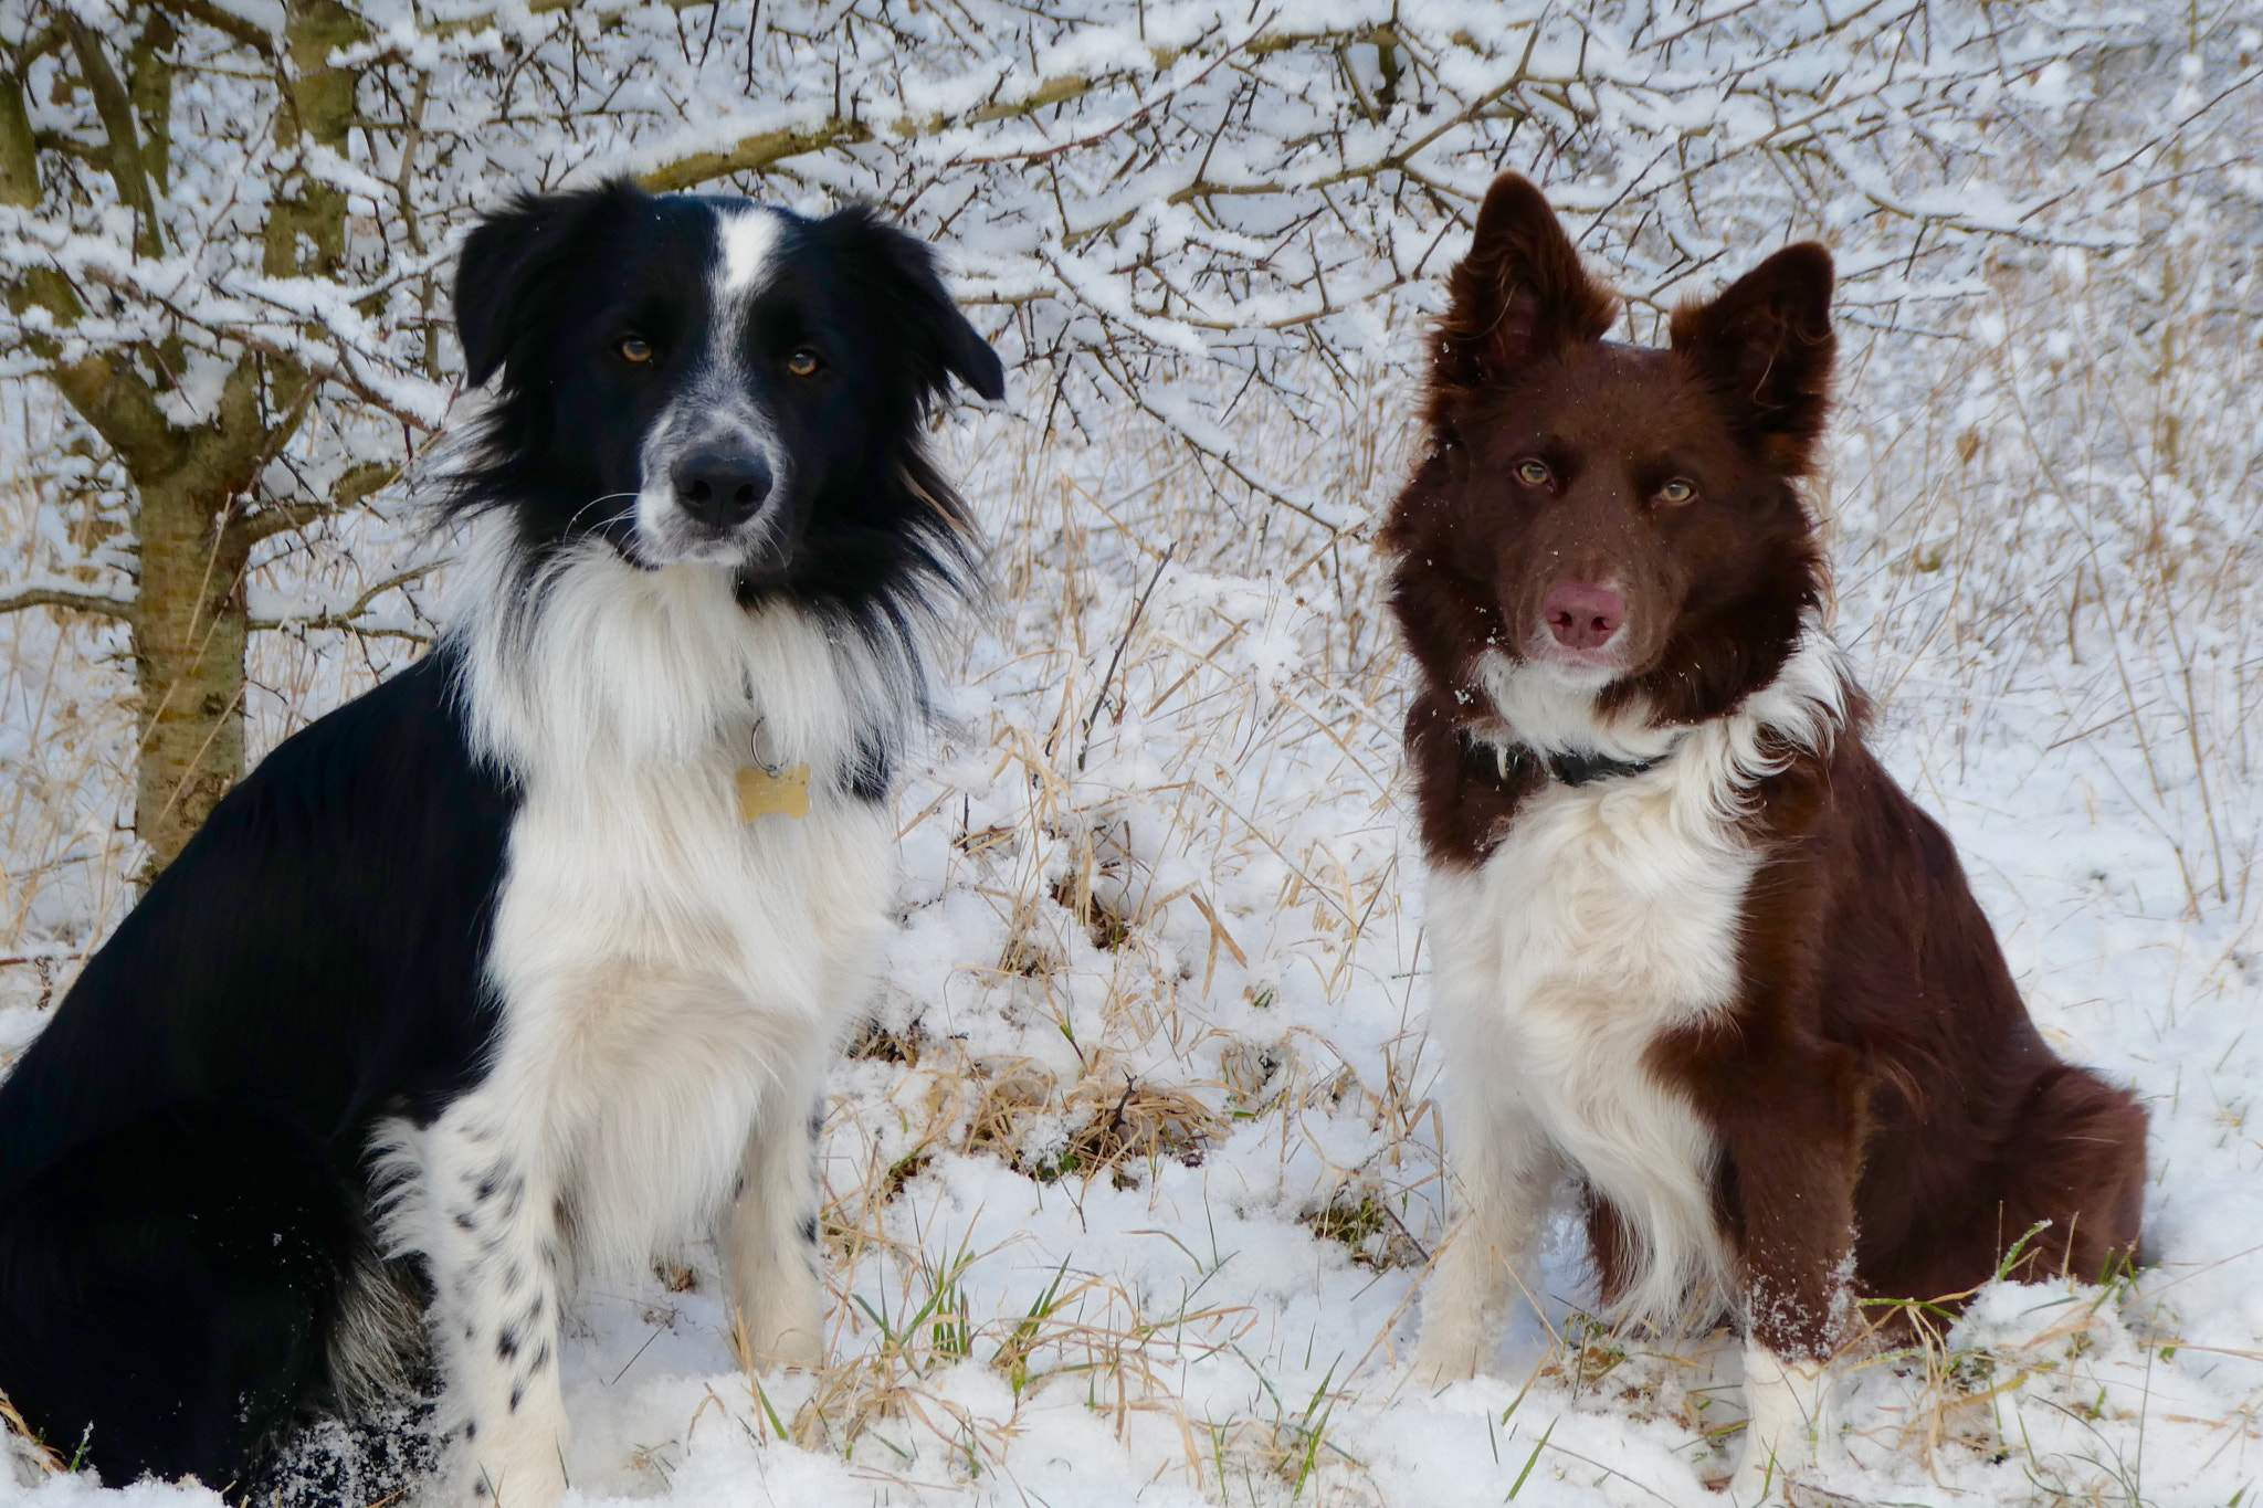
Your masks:
[{"label": "white neck and chest fur of the black-and-white dog, around yellow tag", "polygon": [[[466,644],[475,737],[523,787],[475,1099],[541,1124],[579,1266],[704,1234],[864,997],[892,832],[844,780],[910,710],[860,658],[799,608],[749,615],[720,570],[609,552],[559,570],[516,642]],[[740,821],[756,753],[810,764],[806,816]]]}]

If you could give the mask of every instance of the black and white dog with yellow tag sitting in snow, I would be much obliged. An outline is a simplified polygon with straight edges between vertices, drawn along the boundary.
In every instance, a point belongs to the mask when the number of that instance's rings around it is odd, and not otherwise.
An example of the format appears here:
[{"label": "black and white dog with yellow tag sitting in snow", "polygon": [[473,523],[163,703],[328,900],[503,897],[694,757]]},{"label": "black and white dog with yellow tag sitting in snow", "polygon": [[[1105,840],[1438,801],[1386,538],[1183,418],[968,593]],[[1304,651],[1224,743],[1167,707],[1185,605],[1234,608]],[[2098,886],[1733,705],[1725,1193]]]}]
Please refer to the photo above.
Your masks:
[{"label": "black and white dog with yellow tag sitting in snow", "polygon": [[625,183],[480,224],[457,326],[450,633],[229,794],[0,1085],[0,1390],[106,1481],[238,1481],[367,1388],[403,1266],[455,1501],[566,1490],[577,1273],[713,1232],[754,1354],[821,1357],[808,1117],[973,572],[921,421],[998,357],[869,210]]}]

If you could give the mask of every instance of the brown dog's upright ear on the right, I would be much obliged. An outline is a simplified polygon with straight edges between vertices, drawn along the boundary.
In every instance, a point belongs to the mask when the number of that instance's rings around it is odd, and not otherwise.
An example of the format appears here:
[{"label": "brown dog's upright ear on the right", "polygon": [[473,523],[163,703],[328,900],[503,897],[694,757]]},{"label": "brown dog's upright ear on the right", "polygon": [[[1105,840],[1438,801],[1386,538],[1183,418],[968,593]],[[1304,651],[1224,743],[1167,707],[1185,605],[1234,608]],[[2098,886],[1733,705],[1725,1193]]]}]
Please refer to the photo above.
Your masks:
[{"label": "brown dog's upright ear on the right", "polygon": [[1831,411],[1831,253],[1786,246],[1709,303],[1675,310],[1675,350],[1704,375],[1738,439],[1786,475],[1808,470]]}]

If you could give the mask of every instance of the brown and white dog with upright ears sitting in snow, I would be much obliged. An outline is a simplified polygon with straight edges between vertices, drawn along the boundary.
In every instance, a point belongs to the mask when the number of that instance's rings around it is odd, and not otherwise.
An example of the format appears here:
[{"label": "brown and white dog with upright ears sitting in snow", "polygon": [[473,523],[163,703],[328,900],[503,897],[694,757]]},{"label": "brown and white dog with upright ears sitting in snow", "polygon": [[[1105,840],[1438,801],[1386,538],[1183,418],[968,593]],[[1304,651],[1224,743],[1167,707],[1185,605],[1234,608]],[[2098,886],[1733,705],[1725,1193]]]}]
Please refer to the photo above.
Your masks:
[{"label": "brown and white dog with upright ears sitting in snow", "polygon": [[1616,1314],[1711,1291],[1740,1320],[1756,1501],[1829,1438],[1856,1300],[2129,1262],[2145,1112],[2043,1045],[1948,837],[1862,746],[1795,486],[1829,251],[1623,346],[1503,174],[1451,292],[1383,536],[1462,1205],[1417,1377],[1491,1357],[1568,1182]]}]

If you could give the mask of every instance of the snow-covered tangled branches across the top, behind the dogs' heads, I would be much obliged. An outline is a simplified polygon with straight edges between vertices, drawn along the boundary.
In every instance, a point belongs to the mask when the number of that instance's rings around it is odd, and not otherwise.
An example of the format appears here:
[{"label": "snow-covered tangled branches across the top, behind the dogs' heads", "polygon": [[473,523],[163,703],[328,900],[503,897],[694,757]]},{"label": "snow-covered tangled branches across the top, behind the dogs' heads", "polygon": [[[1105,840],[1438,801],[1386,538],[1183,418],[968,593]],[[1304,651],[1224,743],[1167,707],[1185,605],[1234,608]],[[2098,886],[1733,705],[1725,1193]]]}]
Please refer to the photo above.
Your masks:
[{"label": "snow-covered tangled branches across the top, behind the dogs' heads", "polygon": [[[115,27],[75,20],[104,2]],[[0,208],[0,341],[41,359],[0,380],[97,355],[190,425],[253,362],[278,407],[319,384],[321,423],[287,439],[303,473],[403,466],[455,389],[453,246],[507,192],[634,174],[869,199],[946,249],[1030,414],[1129,400],[1342,525],[1346,500],[1206,439],[1217,393],[1308,416],[1403,362],[1498,170],[1546,181],[1643,317],[1724,258],[1822,235],[1862,242],[1849,298],[1892,319],[1969,294],[2005,244],[2111,242],[2066,192],[2019,201],[1989,172],[2003,122],[2084,104],[2068,59],[2143,29],[1930,0],[349,11],[319,32],[274,0],[20,7],[23,36],[70,45],[25,52],[41,192]],[[172,27],[167,122],[111,88],[156,45],[149,16]],[[351,113],[292,127],[333,81]]]}]

